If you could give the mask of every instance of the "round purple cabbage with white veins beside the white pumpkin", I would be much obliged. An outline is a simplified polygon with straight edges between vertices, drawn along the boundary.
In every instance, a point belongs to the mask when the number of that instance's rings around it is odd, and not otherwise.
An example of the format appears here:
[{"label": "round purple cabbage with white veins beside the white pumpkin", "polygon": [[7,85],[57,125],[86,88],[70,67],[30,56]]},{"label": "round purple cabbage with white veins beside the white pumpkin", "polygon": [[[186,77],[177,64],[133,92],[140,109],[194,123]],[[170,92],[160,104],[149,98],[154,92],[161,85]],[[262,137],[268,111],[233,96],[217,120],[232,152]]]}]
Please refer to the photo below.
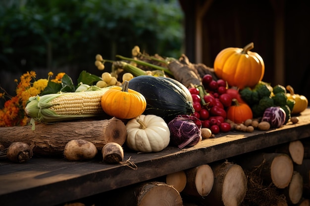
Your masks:
[{"label": "round purple cabbage with white veins beside the white pumpkin", "polygon": [[168,123],[170,142],[180,149],[196,145],[202,140],[201,126],[201,121],[194,116],[178,115]]}]

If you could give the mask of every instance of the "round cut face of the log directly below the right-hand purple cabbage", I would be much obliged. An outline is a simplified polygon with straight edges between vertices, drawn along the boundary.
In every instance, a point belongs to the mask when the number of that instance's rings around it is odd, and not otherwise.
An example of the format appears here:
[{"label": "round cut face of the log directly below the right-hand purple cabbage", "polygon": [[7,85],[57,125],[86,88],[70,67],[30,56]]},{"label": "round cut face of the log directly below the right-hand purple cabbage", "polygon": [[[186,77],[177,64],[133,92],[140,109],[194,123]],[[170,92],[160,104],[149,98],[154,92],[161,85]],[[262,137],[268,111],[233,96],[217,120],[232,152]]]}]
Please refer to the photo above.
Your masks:
[{"label": "round cut face of the log directly below the right-hand purple cabbage", "polygon": [[270,175],[273,184],[278,188],[285,188],[290,184],[294,165],[287,155],[278,155],[271,163]]}]

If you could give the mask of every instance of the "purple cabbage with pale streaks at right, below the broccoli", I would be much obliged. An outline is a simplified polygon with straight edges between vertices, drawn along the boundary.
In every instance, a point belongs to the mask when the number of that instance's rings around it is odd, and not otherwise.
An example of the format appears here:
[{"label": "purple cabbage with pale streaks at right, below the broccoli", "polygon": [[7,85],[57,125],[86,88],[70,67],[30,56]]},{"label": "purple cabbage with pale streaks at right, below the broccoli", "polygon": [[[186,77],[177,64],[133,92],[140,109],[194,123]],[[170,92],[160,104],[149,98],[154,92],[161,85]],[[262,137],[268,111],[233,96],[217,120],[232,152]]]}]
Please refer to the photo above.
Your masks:
[{"label": "purple cabbage with pale streaks at right, below the broccoli", "polygon": [[271,127],[278,128],[285,123],[286,113],[281,107],[268,107],[261,121],[268,122]]}]

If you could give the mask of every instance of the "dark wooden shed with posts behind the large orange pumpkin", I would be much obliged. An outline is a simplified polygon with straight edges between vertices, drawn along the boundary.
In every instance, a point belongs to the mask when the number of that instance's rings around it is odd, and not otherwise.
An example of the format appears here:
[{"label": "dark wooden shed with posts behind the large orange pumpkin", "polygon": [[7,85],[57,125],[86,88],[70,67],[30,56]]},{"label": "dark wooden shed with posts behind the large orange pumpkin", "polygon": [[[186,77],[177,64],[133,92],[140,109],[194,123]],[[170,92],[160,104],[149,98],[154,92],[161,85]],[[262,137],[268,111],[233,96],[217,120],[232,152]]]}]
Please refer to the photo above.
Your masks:
[{"label": "dark wooden shed with posts behind the large orange pumpkin", "polygon": [[310,97],[310,1],[179,0],[185,14],[185,53],[213,67],[226,47],[254,49],[264,59],[263,81],[290,84]]}]

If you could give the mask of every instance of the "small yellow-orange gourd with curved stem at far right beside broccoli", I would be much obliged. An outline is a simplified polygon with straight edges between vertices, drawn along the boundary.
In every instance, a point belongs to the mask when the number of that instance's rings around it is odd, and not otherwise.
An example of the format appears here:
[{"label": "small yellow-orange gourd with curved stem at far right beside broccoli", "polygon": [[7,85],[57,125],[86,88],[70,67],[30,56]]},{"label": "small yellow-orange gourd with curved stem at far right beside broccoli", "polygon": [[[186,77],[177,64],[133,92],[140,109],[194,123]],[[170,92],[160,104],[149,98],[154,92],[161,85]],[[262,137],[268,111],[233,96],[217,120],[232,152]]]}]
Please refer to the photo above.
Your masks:
[{"label": "small yellow-orange gourd with curved stem at far right beside broccoli", "polygon": [[295,101],[295,105],[291,111],[291,114],[299,114],[307,109],[308,99],[304,95],[295,94],[291,85],[287,85],[286,90],[290,92],[286,94],[287,98]]}]

